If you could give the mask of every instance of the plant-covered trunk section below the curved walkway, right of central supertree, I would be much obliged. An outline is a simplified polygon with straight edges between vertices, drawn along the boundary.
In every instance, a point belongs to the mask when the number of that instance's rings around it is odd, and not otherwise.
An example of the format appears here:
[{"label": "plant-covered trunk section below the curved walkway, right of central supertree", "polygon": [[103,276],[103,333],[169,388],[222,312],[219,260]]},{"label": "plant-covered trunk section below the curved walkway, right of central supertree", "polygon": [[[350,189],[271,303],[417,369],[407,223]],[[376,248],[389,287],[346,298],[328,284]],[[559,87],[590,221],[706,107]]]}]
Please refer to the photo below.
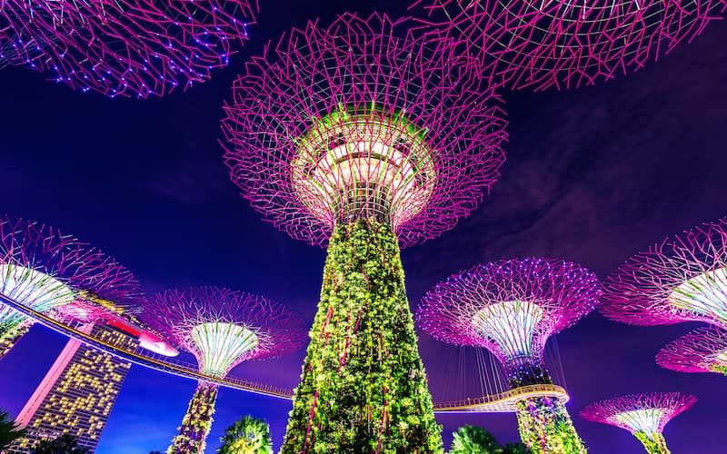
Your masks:
[{"label": "plant-covered trunk section below the curved walkway, right of central supertree", "polygon": [[583,440],[562,402],[536,397],[517,403],[517,425],[523,443],[533,454],[585,453]]}]

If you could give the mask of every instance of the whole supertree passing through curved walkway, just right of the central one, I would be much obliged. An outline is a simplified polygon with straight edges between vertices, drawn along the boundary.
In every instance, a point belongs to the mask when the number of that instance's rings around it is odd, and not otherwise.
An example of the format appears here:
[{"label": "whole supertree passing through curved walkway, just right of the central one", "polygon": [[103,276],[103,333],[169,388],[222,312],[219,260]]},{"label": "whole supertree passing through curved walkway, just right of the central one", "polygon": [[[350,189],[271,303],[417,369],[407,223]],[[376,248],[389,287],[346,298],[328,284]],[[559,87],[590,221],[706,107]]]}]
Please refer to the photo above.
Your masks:
[{"label": "whole supertree passing through curved walkway, just right of the central one", "polygon": [[[424,296],[417,321],[439,341],[489,350],[512,389],[551,384],[545,343],[593,311],[601,293],[593,272],[571,262],[491,262],[437,284]],[[516,407],[520,436],[533,452],[585,451],[563,401],[525,398]]]}]

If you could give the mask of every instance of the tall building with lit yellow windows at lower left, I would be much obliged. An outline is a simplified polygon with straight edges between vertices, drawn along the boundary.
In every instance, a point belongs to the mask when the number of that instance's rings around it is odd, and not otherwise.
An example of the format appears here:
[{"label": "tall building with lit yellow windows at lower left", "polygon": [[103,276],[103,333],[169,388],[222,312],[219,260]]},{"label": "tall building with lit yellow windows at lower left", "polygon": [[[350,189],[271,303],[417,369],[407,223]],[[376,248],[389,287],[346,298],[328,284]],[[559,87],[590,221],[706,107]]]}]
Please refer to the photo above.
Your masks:
[{"label": "tall building with lit yellow windows at lower left", "polygon": [[[135,350],[138,341],[104,324],[80,329],[96,339]],[[95,449],[131,363],[71,339],[17,417],[27,435],[8,453],[28,453],[40,439],[70,433]]]}]

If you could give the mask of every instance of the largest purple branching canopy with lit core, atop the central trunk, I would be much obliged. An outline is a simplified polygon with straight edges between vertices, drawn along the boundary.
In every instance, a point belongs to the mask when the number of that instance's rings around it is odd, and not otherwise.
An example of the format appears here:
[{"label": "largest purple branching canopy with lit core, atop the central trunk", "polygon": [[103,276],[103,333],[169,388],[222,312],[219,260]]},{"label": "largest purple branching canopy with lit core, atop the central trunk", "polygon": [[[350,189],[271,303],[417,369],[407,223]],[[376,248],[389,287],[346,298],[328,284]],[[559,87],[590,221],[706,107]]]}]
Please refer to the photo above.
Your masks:
[{"label": "largest purple branching canopy with lit core, atop the central trunk", "polygon": [[373,217],[402,244],[471,212],[499,176],[500,101],[475,59],[408,21],[341,15],[294,29],[247,64],[225,106],[225,159],[246,199],[324,244]]}]

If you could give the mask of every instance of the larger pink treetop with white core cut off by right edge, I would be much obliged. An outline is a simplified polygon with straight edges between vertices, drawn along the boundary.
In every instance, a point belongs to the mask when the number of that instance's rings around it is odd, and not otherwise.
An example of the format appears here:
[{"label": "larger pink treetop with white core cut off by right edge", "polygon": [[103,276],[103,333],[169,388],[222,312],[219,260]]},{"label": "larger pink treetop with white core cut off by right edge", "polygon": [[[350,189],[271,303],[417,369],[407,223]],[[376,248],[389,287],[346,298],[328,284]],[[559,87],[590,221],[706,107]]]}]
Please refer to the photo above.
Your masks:
[{"label": "larger pink treetop with white core cut off by right edge", "polygon": [[727,329],[727,219],[652,246],[608,279],[600,310],[634,325],[706,321]]}]

